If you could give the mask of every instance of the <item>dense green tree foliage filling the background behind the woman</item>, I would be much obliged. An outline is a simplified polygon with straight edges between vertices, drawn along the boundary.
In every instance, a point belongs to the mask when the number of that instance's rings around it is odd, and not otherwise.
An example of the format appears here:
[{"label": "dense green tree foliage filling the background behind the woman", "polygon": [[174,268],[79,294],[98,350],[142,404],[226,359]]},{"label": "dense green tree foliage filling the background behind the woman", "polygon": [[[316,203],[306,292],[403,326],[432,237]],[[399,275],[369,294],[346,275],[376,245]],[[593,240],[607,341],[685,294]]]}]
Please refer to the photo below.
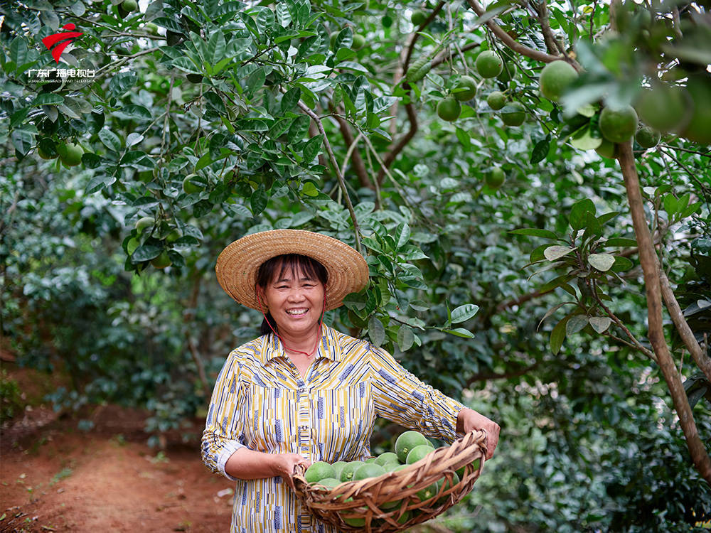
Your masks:
[{"label": "dense green tree foliage filling the background behind the woman", "polygon": [[[708,15],[655,4],[647,23],[641,4],[623,7],[615,32],[610,6],[592,1],[11,6],[0,27],[3,335],[22,365],[72,377],[56,404],[146,407],[158,435],[199,413],[225,355],[257,334],[258,314],[215,284],[220,249],[272,228],[323,232],[370,266],[370,285],[328,323],[447,394],[483,388],[475,407],[502,421],[496,475],[466,504],[485,519],[452,528],[693,525],[707,487],[643,355],[625,183],[594,149],[606,106],[636,104],[653,82],[684,91],[675,75],[710,63]],[[63,66],[94,70],[93,82],[36,81],[30,69],[55,67],[41,39],[68,21],[82,36]],[[498,77],[479,76],[482,50],[503,60]],[[550,58],[579,68],[559,102],[539,92]],[[476,96],[439,119],[466,77]],[[496,91],[503,109],[486,103]],[[506,126],[502,113],[519,106],[525,122]],[[634,154],[661,264],[701,342],[711,176],[695,138],[678,128]],[[71,143],[81,163],[65,168]],[[500,188],[486,183],[494,170]],[[527,277],[527,265],[543,270]],[[675,329],[664,333],[707,439],[707,382]]]}]

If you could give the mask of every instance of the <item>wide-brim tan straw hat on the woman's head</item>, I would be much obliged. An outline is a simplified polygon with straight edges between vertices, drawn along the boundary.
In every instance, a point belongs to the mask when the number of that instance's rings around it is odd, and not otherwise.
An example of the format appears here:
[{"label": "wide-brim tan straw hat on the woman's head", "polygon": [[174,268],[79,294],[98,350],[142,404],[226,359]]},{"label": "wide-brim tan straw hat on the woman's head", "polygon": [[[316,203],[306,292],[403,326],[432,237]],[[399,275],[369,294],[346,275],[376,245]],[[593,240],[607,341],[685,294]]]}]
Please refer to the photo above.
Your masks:
[{"label": "wide-brim tan straw hat on the woman's head", "polygon": [[257,271],[267,259],[283,254],[305,255],[326,267],[326,311],[368,283],[368,264],[345,242],[304,230],[269,230],[245,235],[223,249],[215,265],[220,286],[238,303],[259,310]]}]

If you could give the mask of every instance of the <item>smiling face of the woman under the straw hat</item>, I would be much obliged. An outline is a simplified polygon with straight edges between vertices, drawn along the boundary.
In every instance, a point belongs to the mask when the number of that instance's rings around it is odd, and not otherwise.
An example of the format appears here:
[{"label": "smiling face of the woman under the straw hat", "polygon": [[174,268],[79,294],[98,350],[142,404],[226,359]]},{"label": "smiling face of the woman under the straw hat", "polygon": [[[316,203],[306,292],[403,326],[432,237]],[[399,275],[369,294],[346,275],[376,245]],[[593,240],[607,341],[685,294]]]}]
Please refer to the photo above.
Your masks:
[{"label": "smiling face of the woman under the straw hat", "polygon": [[264,289],[264,304],[277,323],[277,330],[292,337],[312,333],[324,311],[324,284],[300,268],[284,269]]}]

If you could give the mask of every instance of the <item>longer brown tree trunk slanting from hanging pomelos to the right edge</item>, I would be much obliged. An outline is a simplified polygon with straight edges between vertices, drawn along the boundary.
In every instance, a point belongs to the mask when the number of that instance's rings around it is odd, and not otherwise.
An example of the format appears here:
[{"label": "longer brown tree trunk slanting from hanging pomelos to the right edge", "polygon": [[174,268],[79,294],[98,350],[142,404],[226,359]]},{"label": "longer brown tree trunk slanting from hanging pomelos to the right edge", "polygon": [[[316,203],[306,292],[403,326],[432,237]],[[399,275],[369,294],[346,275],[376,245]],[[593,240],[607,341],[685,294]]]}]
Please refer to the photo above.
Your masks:
[{"label": "longer brown tree trunk slanting from hanging pomelos to the right edge", "polygon": [[674,409],[679,416],[679,424],[686,438],[691,458],[702,477],[711,485],[711,458],[706,451],[704,443],[699,437],[693,412],[689,405],[681,378],[676,370],[674,361],[669,352],[669,347],[664,338],[664,324],[662,320],[661,281],[658,269],[658,258],[654,251],[654,244],[649,232],[644,206],[640,192],[639,177],[632,154],[632,144],[627,141],[618,144],[620,168],[624,177],[627,199],[632,215],[632,224],[639,247],[639,259],[644,274],[647,296],[647,316],[649,328],[649,341],[657,355],[659,368],[667,383],[672,397]]}]

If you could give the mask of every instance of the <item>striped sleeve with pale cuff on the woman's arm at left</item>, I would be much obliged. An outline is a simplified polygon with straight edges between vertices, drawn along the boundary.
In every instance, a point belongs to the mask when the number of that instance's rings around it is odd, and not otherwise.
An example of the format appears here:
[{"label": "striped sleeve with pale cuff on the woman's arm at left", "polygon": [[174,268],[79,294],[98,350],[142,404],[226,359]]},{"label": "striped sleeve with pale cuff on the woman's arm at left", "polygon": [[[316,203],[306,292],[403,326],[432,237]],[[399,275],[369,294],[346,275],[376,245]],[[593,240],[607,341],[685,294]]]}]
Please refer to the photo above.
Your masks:
[{"label": "striped sleeve with pale cuff on the woman's arm at left", "polygon": [[203,463],[233,481],[236,478],[225,472],[225,463],[232,453],[247,447],[242,442],[240,410],[245,398],[240,385],[240,365],[232,352],[215,382],[201,447]]}]

